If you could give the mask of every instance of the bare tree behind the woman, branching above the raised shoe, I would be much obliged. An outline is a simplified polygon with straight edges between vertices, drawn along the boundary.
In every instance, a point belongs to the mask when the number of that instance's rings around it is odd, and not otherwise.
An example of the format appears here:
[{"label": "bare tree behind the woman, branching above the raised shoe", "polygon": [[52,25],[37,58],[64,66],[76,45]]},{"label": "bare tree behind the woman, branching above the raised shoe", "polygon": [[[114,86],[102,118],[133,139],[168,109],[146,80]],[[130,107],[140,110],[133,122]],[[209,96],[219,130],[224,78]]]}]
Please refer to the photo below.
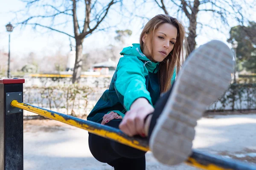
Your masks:
[{"label": "bare tree behind the woman, branching above the raised shoe", "polygon": [[[247,21],[244,15],[245,11],[255,11],[256,1],[252,1],[253,2],[248,2],[246,0],[154,0],[154,2],[157,3],[157,6],[163,9],[165,14],[174,14],[173,8],[168,8],[169,5],[166,5],[166,3],[171,3],[177,7],[177,15],[182,13],[189,20],[188,45],[190,52],[196,47],[195,38],[197,37],[198,24],[217,29],[218,31],[221,27],[218,26],[218,24],[216,24],[216,27],[212,27],[211,23],[198,23],[199,14],[204,15],[206,13],[210,13],[212,19],[209,18],[208,21],[212,23],[218,23],[221,21],[222,24],[229,26],[229,19],[233,18],[236,19],[239,24],[244,25]],[[172,11],[172,13],[169,11]]]}]

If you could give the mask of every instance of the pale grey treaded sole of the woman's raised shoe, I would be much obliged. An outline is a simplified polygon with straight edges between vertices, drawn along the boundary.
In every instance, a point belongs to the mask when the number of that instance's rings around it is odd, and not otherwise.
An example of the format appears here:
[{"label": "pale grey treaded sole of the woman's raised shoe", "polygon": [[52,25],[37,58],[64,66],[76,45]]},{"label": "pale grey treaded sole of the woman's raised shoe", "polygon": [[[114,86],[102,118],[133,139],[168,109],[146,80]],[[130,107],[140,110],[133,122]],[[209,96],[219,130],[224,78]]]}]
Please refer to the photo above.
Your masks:
[{"label": "pale grey treaded sole of the woman's raised shoe", "polygon": [[197,120],[227,90],[232,72],[231,50],[221,41],[210,41],[190,54],[149,140],[158,161],[175,165],[188,158]]}]

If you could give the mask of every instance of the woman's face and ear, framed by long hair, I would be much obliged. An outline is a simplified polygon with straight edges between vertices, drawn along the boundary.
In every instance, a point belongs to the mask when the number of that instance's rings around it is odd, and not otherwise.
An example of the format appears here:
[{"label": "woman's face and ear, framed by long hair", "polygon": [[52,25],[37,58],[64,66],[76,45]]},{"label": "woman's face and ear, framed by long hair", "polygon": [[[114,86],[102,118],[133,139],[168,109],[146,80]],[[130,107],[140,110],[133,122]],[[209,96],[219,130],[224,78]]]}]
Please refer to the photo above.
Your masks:
[{"label": "woman's face and ear, framed by long hair", "polygon": [[[164,23],[153,34],[153,60],[154,62],[162,62],[163,59],[172,51],[177,39],[177,28],[175,26]],[[148,35],[145,34],[142,38],[145,47],[143,48],[143,54],[150,57],[151,43],[148,42]],[[145,43],[146,42],[146,43]]]}]

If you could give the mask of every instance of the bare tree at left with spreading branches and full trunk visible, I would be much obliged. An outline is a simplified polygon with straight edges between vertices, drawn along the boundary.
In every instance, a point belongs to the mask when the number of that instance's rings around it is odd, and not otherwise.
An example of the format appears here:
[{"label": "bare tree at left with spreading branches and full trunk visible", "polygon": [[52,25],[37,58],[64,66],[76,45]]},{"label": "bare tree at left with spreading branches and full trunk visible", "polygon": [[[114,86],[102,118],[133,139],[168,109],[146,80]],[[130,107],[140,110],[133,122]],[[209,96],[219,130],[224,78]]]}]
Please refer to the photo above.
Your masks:
[{"label": "bare tree at left with spreading branches and full trunk visible", "polygon": [[[32,25],[34,28],[43,27],[49,31],[57,31],[65,34],[76,40],[76,62],[73,71],[72,82],[79,82],[81,76],[82,66],[82,49],[84,38],[89,36],[96,30],[105,30],[106,28],[99,29],[99,25],[107,16],[110,8],[116,4],[121,3],[122,0],[22,0],[26,3],[26,10],[29,17],[22,22],[18,22],[22,26]],[[84,18],[78,19],[78,11],[84,11]],[[37,15],[30,15],[29,12],[34,11]],[[58,18],[58,20],[56,19]],[[47,21],[46,21],[47,20]],[[49,22],[49,20],[51,22]],[[64,20],[63,23],[59,20]],[[72,22],[73,33],[65,32],[65,27]],[[49,23],[47,25],[47,23]]]}]

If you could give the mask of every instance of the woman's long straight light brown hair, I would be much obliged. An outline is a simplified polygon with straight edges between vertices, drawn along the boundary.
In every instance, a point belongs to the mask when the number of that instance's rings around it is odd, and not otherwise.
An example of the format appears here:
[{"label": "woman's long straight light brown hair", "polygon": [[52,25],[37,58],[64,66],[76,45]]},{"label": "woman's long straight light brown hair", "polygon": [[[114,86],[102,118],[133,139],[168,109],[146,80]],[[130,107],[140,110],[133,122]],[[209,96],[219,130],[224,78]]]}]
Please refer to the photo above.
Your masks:
[{"label": "woman's long straight light brown hair", "polygon": [[[153,54],[153,35],[157,28],[161,26],[164,23],[169,23],[172,26],[175,26],[177,28],[177,40],[175,42],[174,48],[172,51],[168,54],[168,56],[159,63],[159,71],[158,71],[158,77],[160,82],[160,92],[164,93],[171,88],[171,80],[172,75],[174,72],[174,68],[176,66],[176,73],[180,71],[180,65],[183,63],[183,41],[185,40],[185,45],[187,47],[186,42],[186,31],[182,23],[178,21],[176,18],[171,17],[166,14],[159,14],[153,17],[151,20],[148,21],[148,23],[143,28],[142,33],[140,34],[140,48],[143,51],[145,48],[145,44],[143,42],[143,36],[145,34],[148,34],[147,41],[145,43],[151,43],[151,51],[149,59],[152,60],[152,54]],[[182,60],[182,61],[181,61]]]}]

